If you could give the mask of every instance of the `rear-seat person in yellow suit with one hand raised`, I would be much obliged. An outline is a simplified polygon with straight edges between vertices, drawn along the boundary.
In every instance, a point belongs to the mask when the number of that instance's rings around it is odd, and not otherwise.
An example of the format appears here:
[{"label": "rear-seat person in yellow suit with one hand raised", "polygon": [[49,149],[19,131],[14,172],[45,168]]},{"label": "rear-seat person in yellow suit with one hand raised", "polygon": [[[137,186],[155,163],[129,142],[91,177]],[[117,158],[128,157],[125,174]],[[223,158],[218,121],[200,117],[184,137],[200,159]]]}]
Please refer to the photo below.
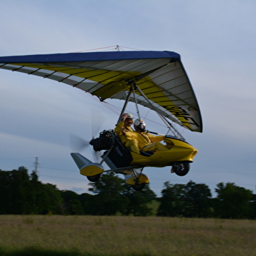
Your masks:
[{"label": "rear-seat person in yellow suit with one hand raised", "polygon": [[134,133],[133,128],[131,125],[133,124],[133,115],[130,113],[123,114],[121,121],[116,125],[114,129],[115,133],[120,137],[121,142],[127,148],[131,148],[131,151],[135,153],[140,153],[138,149],[138,140],[133,138],[127,138],[127,133]]}]

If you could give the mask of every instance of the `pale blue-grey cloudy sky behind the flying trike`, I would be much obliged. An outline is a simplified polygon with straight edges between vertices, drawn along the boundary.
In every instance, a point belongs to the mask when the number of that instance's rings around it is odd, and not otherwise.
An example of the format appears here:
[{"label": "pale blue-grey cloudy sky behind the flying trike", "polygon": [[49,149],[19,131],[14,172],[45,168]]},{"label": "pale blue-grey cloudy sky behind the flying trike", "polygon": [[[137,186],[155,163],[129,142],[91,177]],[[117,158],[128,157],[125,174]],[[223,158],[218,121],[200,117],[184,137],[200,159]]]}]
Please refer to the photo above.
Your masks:
[{"label": "pale blue-grey cloudy sky behind the flying trike", "polygon": [[[192,180],[208,185],[213,196],[219,182],[256,192],[256,1],[0,0],[0,5],[0,56],[117,45],[180,54],[203,122],[202,133],[180,132],[199,153],[184,177],[170,174],[170,167],[144,168],[150,188],[161,196],[165,182]],[[2,69],[0,92],[0,169],[24,166],[30,173],[37,167],[41,182],[88,193],[88,180],[70,155],[70,134],[89,140],[96,130],[113,129],[120,101],[106,106],[66,84]],[[93,118],[95,110],[101,120]],[[159,133],[163,129],[146,124]],[[93,161],[90,148],[80,153]]]}]

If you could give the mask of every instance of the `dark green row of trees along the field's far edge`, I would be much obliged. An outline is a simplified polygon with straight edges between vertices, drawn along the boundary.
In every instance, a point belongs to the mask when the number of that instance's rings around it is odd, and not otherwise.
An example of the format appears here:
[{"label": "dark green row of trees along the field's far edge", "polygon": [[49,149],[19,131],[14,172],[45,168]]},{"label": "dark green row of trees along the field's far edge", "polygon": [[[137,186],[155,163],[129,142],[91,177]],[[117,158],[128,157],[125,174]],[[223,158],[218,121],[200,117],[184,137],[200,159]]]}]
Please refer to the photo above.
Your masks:
[{"label": "dark green row of trees along the field's far edge", "polygon": [[159,205],[157,216],[220,217],[255,219],[256,199],[252,191],[233,183],[217,184],[212,198],[206,184],[170,184],[165,182],[162,197],[157,198],[150,185],[135,191],[113,172],[91,183],[95,195],[59,190],[42,184],[36,172],[25,167],[0,170],[0,214],[133,215],[150,216],[152,201]]}]

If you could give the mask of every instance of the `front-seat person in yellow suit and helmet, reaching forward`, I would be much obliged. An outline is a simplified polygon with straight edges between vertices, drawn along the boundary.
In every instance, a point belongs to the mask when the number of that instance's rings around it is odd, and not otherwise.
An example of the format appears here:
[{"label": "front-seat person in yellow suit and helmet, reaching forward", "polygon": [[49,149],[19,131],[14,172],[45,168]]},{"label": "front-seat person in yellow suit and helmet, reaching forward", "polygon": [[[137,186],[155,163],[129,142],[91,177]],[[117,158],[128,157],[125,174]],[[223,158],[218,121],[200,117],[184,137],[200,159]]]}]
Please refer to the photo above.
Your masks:
[{"label": "front-seat person in yellow suit and helmet, reaching forward", "polygon": [[137,140],[139,150],[144,152],[168,150],[165,145],[160,143],[160,141],[165,139],[165,136],[154,136],[146,132],[146,123],[143,120],[136,119],[133,125],[135,131],[127,131],[125,136],[128,140]]}]

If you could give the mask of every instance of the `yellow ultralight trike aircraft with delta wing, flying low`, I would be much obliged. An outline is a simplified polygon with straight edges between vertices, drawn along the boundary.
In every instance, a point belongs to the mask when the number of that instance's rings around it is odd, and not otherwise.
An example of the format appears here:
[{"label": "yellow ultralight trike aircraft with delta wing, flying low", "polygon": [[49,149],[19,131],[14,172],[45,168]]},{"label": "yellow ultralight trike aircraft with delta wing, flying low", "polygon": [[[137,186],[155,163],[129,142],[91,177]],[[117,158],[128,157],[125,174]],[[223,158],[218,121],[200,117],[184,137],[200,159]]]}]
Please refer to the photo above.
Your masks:
[{"label": "yellow ultralight trike aircraft with delta wing, flying low", "polygon": [[[180,55],[175,52],[127,51],[84,52],[0,57],[0,68],[50,78],[97,96],[100,101],[124,101],[120,119],[129,102],[157,112],[168,127],[164,142],[167,151],[131,152],[113,130],[103,131],[89,143],[95,152],[103,152],[100,163],[93,163],[80,153],[71,153],[80,174],[97,182],[103,172],[123,174],[135,190],[149,182],[144,167],[172,167],[184,176],[189,171],[197,149],[172,125],[202,132],[199,105]],[[172,123],[170,123],[172,121]],[[105,162],[109,170],[104,170]]]}]

